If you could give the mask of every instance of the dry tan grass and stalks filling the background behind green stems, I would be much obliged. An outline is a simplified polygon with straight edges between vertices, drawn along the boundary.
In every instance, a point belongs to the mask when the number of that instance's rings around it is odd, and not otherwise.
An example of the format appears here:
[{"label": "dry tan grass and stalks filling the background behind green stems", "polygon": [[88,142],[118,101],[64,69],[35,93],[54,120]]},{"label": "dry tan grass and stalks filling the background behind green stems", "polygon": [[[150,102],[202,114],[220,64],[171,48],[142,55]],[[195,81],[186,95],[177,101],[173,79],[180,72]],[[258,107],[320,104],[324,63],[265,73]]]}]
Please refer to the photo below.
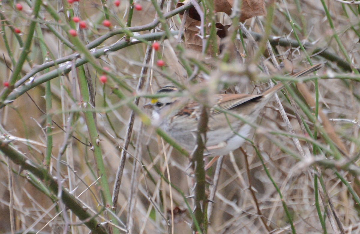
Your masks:
[{"label": "dry tan grass and stalks filling the background behind green stems", "polygon": [[[101,26],[102,20],[98,20],[103,16],[103,9],[99,3],[80,1],[79,4],[82,18],[86,19],[88,23],[93,23],[90,26],[92,30],[86,31],[86,41],[88,42],[99,37],[100,34],[108,32],[107,28]],[[152,22],[154,19],[155,10],[152,4],[145,1],[140,3],[143,5],[144,10],[134,12],[132,26],[141,26]],[[29,24],[28,18],[30,17],[28,13],[29,8],[25,7],[25,3],[22,3],[25,9],[23,12],[19,12],[14,10],[10,3],[4,3],[3,1],[2,4],[0,10],[3,12],[3,15],[6,16],[8,21],[13,22],[13,25],[21,28],[25,33],[21,37],[25,41]],[[115,8],[112,2],[108,2],[110,14],[113,16],[113,24],[116,24],[114,16],[122,18],[126,14],[126,4],[124,1],[121,3],[120,8]],[[350,5],[350,7],[345,5],[342,7],[341,3],[334,0],[327,1],[327,5],[334,22],[335,31],[345,46],[345,50],[350,56],[354,67],[357,67],[360,58],[359,40],[354,32],[359,31],[357,5]],[[61,6],[56,6],[56,4],[54,7],[61,8]],[[287,1],[287,5],[284,5],[283,1],[279,1],[275,6],[270,34],[274,36],[288,36],[289,40],[294,40],[291,24],[285,14],[286,10],[289,10],[297,27],[303,30],[303,32],[297,31],[301,40],[314,42],[314,48],[326,49],[336,54],[339,59],[346,60],[341,49],[339,49],[339,45],[334,40],[334,32],[329,26],[329,21],[326,18],[321,2],[319,0],[301,1],[301,8],[302,14],[298,13],[293,1]],[[354,13],[351,12],[350,8],[354,9]],[[174,4],[170,2],[165,3],[164,12],[171,9],[174,9]],[[344,9],[346,9],[349,17],[346,17]],[[42,12],[45,14],[46,19],[51,18],[44,9],[42,9]],[[59,15],[65,19],[63,13],[59,13]],[[266,18],[261,17],[261,19]],[[176,22],[175,25],[174,22]],[[50,23],[57,27],[54,21],[50,21]],[[98,31],[95,30],[95,25]],[[168,19],[168,25],[174,26],[174,28],[179,27],[178,18],[175,16]],[[44,27],[42,32],[44,33],[46,46],[48,46],[48,58],[50,60],[72,54],[72,51],[64,46],[52,32],[48,31],[44,25],[42,27]],[[246,22],[246,27],[249,31],[260,33],[255,19],[249,19]],[[354,30],[351,27],[354,27]],[[65,35],[63,31],[59,31]],[[15,60],[17,60],[21,49],[15,39],[15,34],[10,32],[7,25],[5,25],[5,32],[9,40],[8,45],[13,52]],[[143,33],[149,32],[144,31]],[[102,48],[104,45],[111,45],[121,39],[122,36],[113,36],[98,48]],[[65,37],[67,38],[66,35]],[[251,49],[248,40],[244,39],[244,41],[249,53],[255,54],[256,51]],[[240,53],[244,54],[240,41],[237,41],[236,44]],[[179,50],[174,46],[175,43],[167,40],[162,45],[161,51],[152,54],[150,58],[149,71],[144,75],[144,91],[140,94],[149,94],[163,85],[170,84],[171,82],[166,79],[166,76],[185,84],[192,90],[191,84],[186,83],[186,78],[184,78],[186,71],[181,66],[179,58],[182,57],[189,61],[194,55],[192,53],[180,55]],[[102,56],[101,60],[98,59],[98,63],[101,66],[109,67],[111,73],[116,75],[118,80],[125,81],[131,87],[131,91],[125,91],[122,87],[119,87],[129,100],[132,100],[133,95],[136,94],[135,90],[138,85],[141,69],[143,68],[146,48],[147,45],[144,43],[132,45],[107,56]],[[309,48],[307,50],[308,53],[311,54],[314,48]],[[6,63],[3,60],[0,63],[0,77],[2,77],[0,82],[3,83],[10,77],[12,73],[10,68],[13,69],[13,66],[8,59],[8,52],[6,51],[3,39],[0,40],[0,49],[2,54],[4,54],[4,58],[7,59]],[[300,71],[310,66],[306,61],[303,51],[299,48],[275,46],[274,49],[276,49],[275,54],[279,55],[279,62],[285,60],[284,73],[292,68]],[[265,56],[268,56],[267,52],[265,52]],[[32,65],[29,65],[28,62],[24,63],[21,77],[34,68],[35,64],[43,63],[44,57],[41,55],[37,39],[34,39],[28,57],[32,61]],[[162,57],[167,63],[167,67],[163,70],[156,66],[158,57]],[[219,62],[215,58],[204,59],[197,57],[197,59],[211,64],[214,72],[219,66]],[[331,62],[328,58],[314,56],[311,60],[313,63],[327,61],[325,67],[318,72],[319,75],[331,77],[335,73],[348,73],[349,76],[357,77],[357,81],[359,81],[358,74],[354,74],[354,72],[351,74],[350,71],[345,71],[337,63]],[[243,64],[247,64],[249,61],[249,57],[242,58],[241,61],[235,63],[235,67],[241,68]],[[271,60],[266,61],[266,64],[271,71],[274,71],[275,68],[273,68]],[[131,109],[125,105],[123,100],[120,100],[118,96],[113,94],[111,85],[103,87],[98,79],[99,73],[96,73],[92,66],[89,67],[91,78],[96,83],[96,107],[93,111],[95,111],[97,117],[97,128],[99,139],[101,140],[99,145],[102,150],[108,184],[112,193],[116,171],[120,163],[121,147],[126,138]],[[52,70],[54,67],[50,69]],[[257,73],[260,76],[264,76],[260,73],[260,70]],[[37,76],[41,74],[42,72],[39,72]],[[266,85],[260,86],[257,84],[254,89],[254,82],[249,81],[248,77],[240,76],[236,72],[223,72],[221,77],[215,78],[233,79],[234,77],[237,82],[236,84],[231,83],[227,92],[236,90],[242,93],[258,93],[267,87]],[[215,78],[211,76],[211,79],[215,80]],[[71,97],[73,85],[76,86],[77,98],[75,101]],[[314,81],[306,82],[306,85],[313,98],[315,98]],[[329,119],[359,120],[360,93],[358,82],[346,79],[321,79],[318,81],[318,86],[319,107],[323,109]],[[3,87],[1,87],[2,89]],[[79,105],[82,99],[80,99],[80,90],[77,87],[77,83],[73,83],[73,74],[70,72],[65,76],[53,78],[51,80],[51,91],[52,108],[48,110],[48,113],[62,127],[67,125],[69,114],[74,113],[71,131],[81,142],[70,138],[68,147],[61,157],[61,162],[57,161],[59,150],[66,141],[66,134],[59,127],[53,125],[53,157],[49,165],[49,172],[53,176],[57,176],[59,172],[64,188],[73,191],[72,194],[78,197],[82,206],[86,206],[86,210],[90,215],[94,216],[102,211],[102,206],[104,205],[103,197],[100,195],[99,184],[94,183],[98,179],[98,167],[95,163],[94,153],[90,150],[90,147],[83,144],[89,144],[88,126],[85,123],[84,113]],[[224,92],[225,89],[218,91]],[[44,94],[45,83],[34,87],[28,91],[28,95],[23,94],[10,105],[0,109],[1,134],[6,137],[13,136],[14,140],[11,142],[11,145],[18,149],[19,152],[22,152],[25,157],[39,165],[44,163],[46,141],[48,139],[44,130],[46,115],[39,110],[40,108],[46,112],[45,99],[42,98]],[[29,96],[31,96],[32,100]],[[303,136],[304,134],[300,129],[298,121],[294,117],[293,107],[281,92],[279,92],[279,96],[285,111],[289,113],[288,116],[296,134]],[[144,103],[145,98],[141,98],[140,106]],[[306,117],[301,109],[300,114],[304,118],[304,122],[309,124],[311,132],[314,133],[315,128],[312,121]],[[336,134],[345,145],[348,157],[350,159],[355,158],[352,165],[357,167],[358,159],[356,157],[359,154],[360,148],[358,137],[359,125],[345,121],[330,122]],[[330,209],[328,199],[331,199],[336,211],[335,215],[338,216],[345,233],[360,233],[359,206],[356,206],[354,197],[350,194],[346,184],[335,174],[335,171],[338,171],[339,175],[350,183],[350,187],[355,192],[359,191],[356,190],[357,186],[354,183],[354,173],[350,173],[345,167],[340,167],[345,164],[347,159],[339,161],[329,160],[330,162],[338,163],[330,166],[324,165],[321,162],[315,163],[316,160],[324,159],[325,156],[329,159],[333,159],[334,156],[323,152],[318,152],[314,155],[309,148],[309,144],[304,140],[301,140],[301,145],[308,158],[301,158],[301,155],[294,147],[291,137],[270,134],[270,132],[288,132],[277,110],[277,106],[273,102],[270,102],[264,111],[262,111],[256,123],[259,127],[252,131],[250,138],[254,141],[255,147],[264,159],[271,178],[281,191],[296,233],[325,232],[324,227],[320,224],[318,211],[315,206],[314,168],[318,168],[321,171],[322,174],[319,173],[320,171],[315,171],[315,174],[318,174],[323,179],[324,186],[327,189],[328,197],[319,198],[321,215],[325,219],[327,233],[336,233],[337,229],[339,229],[337,224],[335,224],[337,228],[335,230],[330,225],[330,221],[334,220],[333,213],[329,212],[326,214],[325,212]],[[329,143],[321,136],[316,139],[316,142],[325,146]],[[277,143],[280,143],[281,147]],[[282,149],[283,147],[294,152],[296,157],[285,153]],[[175,213],[174,233],[192,233],[190,224],[192,224],[193,220],[185,200],[193,208],[193,199],[184,199],[183,197],[183,194],[186,197],[193,195],[194,177],[192,169],[189,168],[188,158],[172,149],[168,143],[161,141],[161,138],[154,132],[153,127],[141,124],[138,115],[135,117],[134,131],[127,150],[128,154],[116,210],[116,215],[123,224],[119,223],[118,225],[121,227],[125,225],[126,229],[129,229],[131,233],[167,233],[168,228],[163,217],[165,216],[171,222],[170,211],[176,207],[175,211],[179,212]],[[166,158],[164,157],[164,152],[166,152]],[[246,155],[244,155],[244,152],[246,152]],[[134,157],[138,159],[134,159]],[[247,157],[248,166],[245,157]],[[14,212],[14,230],[20,231],[19,233],[24,230],[35,233],[38,230],[41,230],[41,233],[63,233],[66,230],[66,224],[70,224],[68,233],[89,233],[89,229],[70,210],[66,212],[68,221],[64,218],[63,213],[59,215],[62,209],[61,204],[59,202],[54,203],[48,196],[40,192],[39,189],[36,189],[29,182],[29,180],[31,181],[29,179],[30,174],[26,170],[22,171],[21,167],[11,162],[1,151],[0,158],[2,162],[0,164],[0,213],[3,214],[0,215],[0,233],[11,232],[10,211]],[[139,160],[141,160],[143,168],[140,168]],[[60,165],[60,171],[57,169],[57,164]],[[12,169],[11,173],[8,172],[8,165]],[[216,165],[207,173],[211,180],[213,180],[214,174],[216,174],[215,168]],[[167,169],[170,172],[169,174]],[[20,175],[18,175],[19,172]],[[9,177],[13,180],[10,189]],[[167,183],[169,177],[171,183],[177,189],[169,188]],[[37,182],[41,184],[44,181]],[[90,189],[88,189],[89,186]],[[319,188],[321,187],[320,182],[318,186]],[[249,187],[253,189],[255,197],[252,195]],[[208,189],[210,193],[213,186],[209,185]],[[318,189],[318,192],[322,190]],[[182,191],[183,194],[179,191]],[[56,196],[57,194],[54,195]],[[150,202],[149,196],[153,203]],[[10,198],[13,199],[12,204],[9,204]],[[170,198],[172,198],[172,202]],[[258,215],[258,208],[266,220],[266,225],[273,230],[271,233],[291,232],[289,216],[284,212],[282,199],[269,176],[267,176],[264,166],[250,143],[243,145],[243,151],[235,150],[233,155],[224,157],[213,202],[211,204],[212,214],[209,220],[208,233],[268,233],[266,226]],[[158,210],[153,207],[154,204]],[[11,208],[10,210],[9,207]],[[328,217],[328,214],[332,216]],[[105,222],[110,219],[103,215],[104,213],[100,212],[96,220]]]}]

